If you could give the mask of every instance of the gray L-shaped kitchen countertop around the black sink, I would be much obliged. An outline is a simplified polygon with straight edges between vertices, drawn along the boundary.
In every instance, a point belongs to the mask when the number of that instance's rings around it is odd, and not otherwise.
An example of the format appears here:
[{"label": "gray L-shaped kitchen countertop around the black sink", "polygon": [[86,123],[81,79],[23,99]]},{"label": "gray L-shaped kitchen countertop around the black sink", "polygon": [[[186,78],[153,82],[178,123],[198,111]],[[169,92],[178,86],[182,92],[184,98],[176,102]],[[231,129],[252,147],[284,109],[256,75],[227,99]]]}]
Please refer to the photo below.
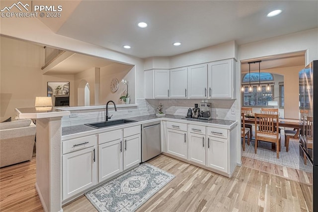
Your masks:
[{"label": "gray L-shaped kitchen countertop around the black sink", "polygon": [[[170,114],[166,114],[165,116],[161,116],[158,117],[156,116],[156,114],[151,114],[151,115],[143,115],[143,116],[136,116],[136,117],[130,117],[127,118],[130,120],[135,120],[138,122],[145,122],[145,121],[149,121],[149,120],[156,120],[156,119],[169,119],[170,121],[173,121],[171,119],[174,119],[175,121],[187,121],[187,123],[191,123],[192,121],[195,123],[210,123],[210,124],[219,124],[219,125],[225,125],[225,126],[230,126],[233,123],[235,123],[236,121],[233,120],[224,120],[224,119],[210,119],[210,120],[200,120],[197,118],[185,118],[185,116],[182,115],[170,115]],[[136,123],[136,122],[135,122]],[[141,124],[143,124],[141,123]],[[117,125],[119,126],[119,125]],[[108,128],[108,127],[105,127]],[[87,131],[91,131],[91,130],[96,130],[96,128],[91,127],[91,126],[87,126],[84,124],[81,125],[75,125],[75,126],[67,126],[67,127],[62,127],[62,136],[63,135],[71,135],[71,134],[76,134],[76,133],[80,133],[80,132],[87,132]]]}]

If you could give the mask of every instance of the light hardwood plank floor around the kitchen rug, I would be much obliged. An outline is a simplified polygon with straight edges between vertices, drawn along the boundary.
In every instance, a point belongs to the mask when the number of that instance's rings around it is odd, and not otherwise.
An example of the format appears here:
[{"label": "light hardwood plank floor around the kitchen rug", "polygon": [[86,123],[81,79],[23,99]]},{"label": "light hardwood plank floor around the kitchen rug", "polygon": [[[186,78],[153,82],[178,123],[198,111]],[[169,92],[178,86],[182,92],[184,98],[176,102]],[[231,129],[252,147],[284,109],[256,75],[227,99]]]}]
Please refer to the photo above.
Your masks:
[{"label": "light hardwood plank floor around the kitchen rug", "polygon": [[[242,159],[232,178],[159,155],[148,161],[175,178],[138,212],[305,212],[313,211],[313,177],[266,162]],[[0,211],[43,211],[35,190],[35,158],[0,169]],[[84,197],[65,212],[95,212]]]}]

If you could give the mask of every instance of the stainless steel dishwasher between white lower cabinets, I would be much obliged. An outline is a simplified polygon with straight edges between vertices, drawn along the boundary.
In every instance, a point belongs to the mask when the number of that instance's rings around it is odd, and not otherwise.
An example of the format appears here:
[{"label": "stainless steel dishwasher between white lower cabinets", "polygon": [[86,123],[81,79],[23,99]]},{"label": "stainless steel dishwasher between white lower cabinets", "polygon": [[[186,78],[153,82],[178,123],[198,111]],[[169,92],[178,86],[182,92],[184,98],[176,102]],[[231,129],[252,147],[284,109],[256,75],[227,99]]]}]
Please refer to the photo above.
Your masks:
[{"label": "stainless steel dishwasher between white lower cabinets", "polygon": [[160,121],[142,124],[141,161],[145,162],[161,153]]}]

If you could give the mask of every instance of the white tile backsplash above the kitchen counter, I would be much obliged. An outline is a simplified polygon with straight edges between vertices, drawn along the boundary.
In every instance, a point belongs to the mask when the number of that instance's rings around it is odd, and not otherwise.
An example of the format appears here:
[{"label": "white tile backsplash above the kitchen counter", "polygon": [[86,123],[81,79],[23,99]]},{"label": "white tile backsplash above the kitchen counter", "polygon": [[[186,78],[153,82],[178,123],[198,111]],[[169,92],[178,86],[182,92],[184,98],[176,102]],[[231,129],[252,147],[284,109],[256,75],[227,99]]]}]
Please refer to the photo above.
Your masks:
[{"label": "white tile backsplash above the kitchen counter", "polygon": [[[231,107],[235,106],[236,100],[207,100],[212,103],[212,118],[236,120],[236,114],[231,114]],[[137,99],[136,107],[118,107],[109,108],[108,116],[113,115],[111,119],[130,118],[141,115],[154,114],[156,108],[162,103],[166,114],[186,116],[189,108],[194,104],[199,104],[202,100],[145,100]],[[129,110],[129,111],[128,111]],[[105,109],[85,109],[72,110],[71,113],[77,113],[77,117],[63,116],[62,127],[75,126],[85,123],[93,123],[105,120]]]}]

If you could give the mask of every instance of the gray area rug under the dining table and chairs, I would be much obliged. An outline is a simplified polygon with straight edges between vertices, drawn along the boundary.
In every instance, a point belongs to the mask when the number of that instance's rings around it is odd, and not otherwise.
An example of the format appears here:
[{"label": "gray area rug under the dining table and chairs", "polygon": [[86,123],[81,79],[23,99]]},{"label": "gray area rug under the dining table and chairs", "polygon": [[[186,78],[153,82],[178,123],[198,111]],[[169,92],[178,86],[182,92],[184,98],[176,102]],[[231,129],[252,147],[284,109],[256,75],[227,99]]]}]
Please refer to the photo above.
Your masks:
[{"label": "gray area rug under the dining table and chairs", "polygon": [[305,165],[304,158],[299,155],[299,142],[291,139],[289,142],[288,152],[286,152],[284,140],[281,140],[279,159],[276,158],[276,152],[271,150],[271,143],[262,141],[258,142],[257,153],[255,154],[255,140],[252,140],[249,146],[247,145],[247,141],[245,142],[245,151],[242,151],[242,156],[244,157],[299,169],[306,172],[313,172],[313,166],[310,162],[307,162],[307,165]]}]

